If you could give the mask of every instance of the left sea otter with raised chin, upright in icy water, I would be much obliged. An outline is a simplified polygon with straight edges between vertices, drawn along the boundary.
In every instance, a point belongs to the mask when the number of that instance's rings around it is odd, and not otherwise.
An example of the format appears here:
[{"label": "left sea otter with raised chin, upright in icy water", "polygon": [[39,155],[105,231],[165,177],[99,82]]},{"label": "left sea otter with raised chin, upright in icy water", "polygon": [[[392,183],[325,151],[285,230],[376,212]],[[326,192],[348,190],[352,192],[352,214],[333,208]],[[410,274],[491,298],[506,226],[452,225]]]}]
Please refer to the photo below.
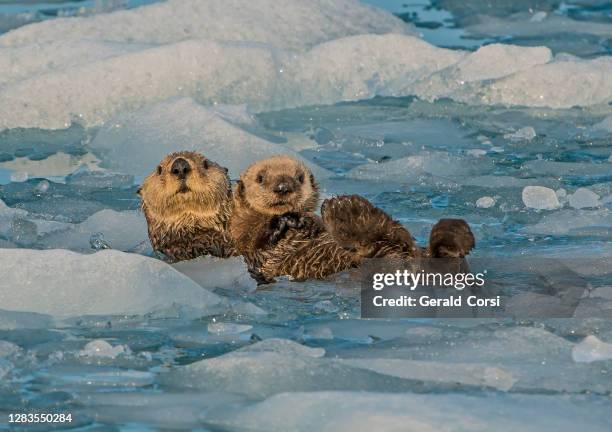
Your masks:
[{"label": "left sea otter with raised chin, upright in icy water", "polygon": [[236,255],[227,169],[195,152],[166,156],[138,190],[155,251],[169,261]]}]

